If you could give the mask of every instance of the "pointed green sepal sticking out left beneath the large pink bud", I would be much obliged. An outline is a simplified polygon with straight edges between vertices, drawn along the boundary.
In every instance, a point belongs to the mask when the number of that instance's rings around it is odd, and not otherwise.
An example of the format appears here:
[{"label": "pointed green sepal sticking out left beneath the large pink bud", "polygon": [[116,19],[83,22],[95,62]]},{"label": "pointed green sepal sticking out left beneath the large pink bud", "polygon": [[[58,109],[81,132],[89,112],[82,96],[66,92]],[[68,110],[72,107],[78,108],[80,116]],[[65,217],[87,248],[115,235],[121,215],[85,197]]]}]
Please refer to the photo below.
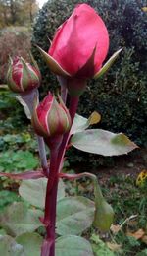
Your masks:
[{"label": "pointed green sepal sticking out left beneath the large pink bud", "polygon": [[42,50],[39,46],[36,45],[39,52],[41,53],[43,59],[45,60],[46,64],[50,68],[50,70],[55,73],[56,75],[63,76],[63,77],[71,77],[71,75],[64,70],[60,64],[52,58],[49,54],[47,54],[44,50]]}]

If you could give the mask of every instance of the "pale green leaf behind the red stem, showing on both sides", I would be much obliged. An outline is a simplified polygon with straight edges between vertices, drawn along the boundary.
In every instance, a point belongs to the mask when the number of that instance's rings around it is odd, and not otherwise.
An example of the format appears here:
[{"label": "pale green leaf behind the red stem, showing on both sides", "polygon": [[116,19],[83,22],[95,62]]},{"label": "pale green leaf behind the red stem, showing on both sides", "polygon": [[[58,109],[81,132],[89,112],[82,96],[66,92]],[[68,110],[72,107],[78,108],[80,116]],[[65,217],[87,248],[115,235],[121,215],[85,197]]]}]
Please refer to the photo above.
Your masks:
[{"label": "pale green leaf behind the red stem, showing on both sides", "polygon": [[[19,194],[31,205],[44,208],[46,195],[46,178],[24,180],[19,188]],[[58,197],[60,200],[65,197],[65,184],[62,180],[58,185]]]}]

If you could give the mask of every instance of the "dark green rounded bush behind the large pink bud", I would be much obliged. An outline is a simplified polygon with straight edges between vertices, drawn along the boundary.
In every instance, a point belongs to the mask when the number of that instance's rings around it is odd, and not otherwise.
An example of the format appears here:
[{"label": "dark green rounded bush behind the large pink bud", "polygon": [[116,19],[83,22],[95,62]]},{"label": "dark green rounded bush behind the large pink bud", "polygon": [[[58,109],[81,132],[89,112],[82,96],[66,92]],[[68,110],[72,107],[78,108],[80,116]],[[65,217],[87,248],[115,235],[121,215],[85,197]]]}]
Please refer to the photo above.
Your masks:
[{"label": "dark green rounded bush behind the large pink bud", "polygon": [[[90,81],[81,96],[78,112],[88,116],[93,110],[102,115],[98,125],[114,132],[124,132],[139,145],[145,145],[147,129],[147,21],[142,11],[145,1],[86,0],[101,15],[110,34],[108,57],[120,47],[119,60],[99,81]],[[48,38],[70,16],[78,0],[50,0],[40,10],[33,27],[32,43],[45,51]],[[139,4],[138,4],[139,3]],[[32,48],[43,76],[41,93],[57,88],[57,81],[42,61],[39,52]]]}]

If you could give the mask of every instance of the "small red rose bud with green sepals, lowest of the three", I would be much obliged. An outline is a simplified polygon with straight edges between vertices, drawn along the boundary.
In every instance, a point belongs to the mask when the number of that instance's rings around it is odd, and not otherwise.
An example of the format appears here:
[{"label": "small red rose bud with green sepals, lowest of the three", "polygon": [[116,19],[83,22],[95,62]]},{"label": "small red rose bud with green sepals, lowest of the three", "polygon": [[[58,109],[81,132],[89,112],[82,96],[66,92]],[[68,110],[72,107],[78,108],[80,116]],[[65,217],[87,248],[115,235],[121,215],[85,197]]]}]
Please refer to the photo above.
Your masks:
[{"label": "small red rose bud with green sepals, lowest of the three", "polygon": [[51,93],[37,106],[35,102],[32,125],[35,132],[42,137],[53,137],[68,132],[71,128],[71,117],[62,99],[59,102]]}]

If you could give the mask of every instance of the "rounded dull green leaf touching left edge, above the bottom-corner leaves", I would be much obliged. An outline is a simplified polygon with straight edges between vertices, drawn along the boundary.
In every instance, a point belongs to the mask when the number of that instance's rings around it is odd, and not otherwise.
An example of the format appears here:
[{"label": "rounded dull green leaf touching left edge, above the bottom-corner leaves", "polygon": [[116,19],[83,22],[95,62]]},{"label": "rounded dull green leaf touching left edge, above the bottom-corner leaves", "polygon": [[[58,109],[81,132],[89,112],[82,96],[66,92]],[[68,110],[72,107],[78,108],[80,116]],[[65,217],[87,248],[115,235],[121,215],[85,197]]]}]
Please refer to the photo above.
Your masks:
[{"label": "rounded dull green leaf touching left edge, above the bottom-corner leaves", "polygon": [[39,217],[42,215],[42,211],[28,209],[22,202],[13,203],[0,215],[0,224],[8,233],[16,236],[25,232],[33,232],[41,226]]}]

